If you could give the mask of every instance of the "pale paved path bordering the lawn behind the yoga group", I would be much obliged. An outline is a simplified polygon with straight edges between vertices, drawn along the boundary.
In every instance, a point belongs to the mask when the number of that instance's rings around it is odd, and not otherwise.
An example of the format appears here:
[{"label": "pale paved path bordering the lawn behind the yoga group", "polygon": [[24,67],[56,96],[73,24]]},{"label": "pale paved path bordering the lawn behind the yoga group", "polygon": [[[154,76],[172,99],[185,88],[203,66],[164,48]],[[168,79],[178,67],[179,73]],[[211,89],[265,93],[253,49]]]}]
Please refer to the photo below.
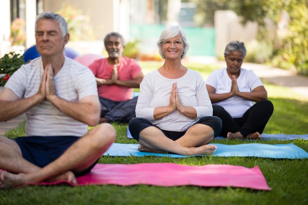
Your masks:
[{"label": "pale paved path bordering the lawn behind the yoga group", "polygon": [[[200,62],[200,63],[215,63],[221,64],[221,67],[225,67],[225,62],[217,62],[215,59],[207,59],[204,57],[191,58],[190,61]],[[253,70],[253,72],[260,78],[266,80],[274,85],[289,87],[295,92],[306,96],[308,98],[308,77],[298,76],[284,69],[273,68],[265,66],[262,64],[253,63],[243,63],[243,68],[247,70]],[[2,88],[0,88],[0,92]],[[19,117],[9,120],[7,122],[0,122],[0,136],[3,136],[9,129],[15,128],[25,120],[25,115],[20,115]]]}]

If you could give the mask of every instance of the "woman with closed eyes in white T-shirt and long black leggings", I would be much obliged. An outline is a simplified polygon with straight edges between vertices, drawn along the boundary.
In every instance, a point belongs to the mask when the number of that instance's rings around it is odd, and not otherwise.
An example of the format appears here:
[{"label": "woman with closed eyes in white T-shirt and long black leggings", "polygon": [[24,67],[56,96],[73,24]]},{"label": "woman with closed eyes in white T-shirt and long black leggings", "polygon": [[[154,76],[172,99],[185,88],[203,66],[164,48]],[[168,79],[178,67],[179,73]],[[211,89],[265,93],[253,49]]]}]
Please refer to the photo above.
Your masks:
[{"label": "woman with closed eyes in white T-shirt and long black leggings", "polygon": [[260,139],[273,104],[267,100],[261,80],[253,71],[241,68],[246,56],[244,43],[230,42],[224,55],[227,68],[215,70],[206,81],[213,115],[223,122],[220,136]]}]

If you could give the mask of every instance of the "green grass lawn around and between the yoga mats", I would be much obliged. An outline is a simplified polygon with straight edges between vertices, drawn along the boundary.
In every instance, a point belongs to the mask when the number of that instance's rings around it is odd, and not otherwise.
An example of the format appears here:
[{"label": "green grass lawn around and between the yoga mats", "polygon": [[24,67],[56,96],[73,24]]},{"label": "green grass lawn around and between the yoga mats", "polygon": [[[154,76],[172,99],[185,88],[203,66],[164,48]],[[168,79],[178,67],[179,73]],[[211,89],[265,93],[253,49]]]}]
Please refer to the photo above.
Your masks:
[{"label": "green grass lawn around and between the yoga mats", "polygon": [[[157,69],[161,62],[140,62],[145,73]],[[206,78],[215,66],[190,64]],[[265,133],[307,134],[308,99],[291,89],[265,84],[269,99],[274,104],[274,113]],[[112,123],[117,130],[117,143],[137,143],[126,138],[127,124]],[[24,134],[25,123],[6,133],[16,137]],[[214,143],[267,143],[295,145],[308,151],[307,140],[293,141],[241,141],[214,140]],[[268,159],[257,157],[101,157],[99,163],[154,163],[173,162],[187,165],[230,164],[245,167],[259,166],[271,191],[257,191],[234,187],[175,186],[160,187],[149,185],[117,186],[98,185],[71,187],[26,186],[0,191],[0,204],[307,204],[308,159]]]}]

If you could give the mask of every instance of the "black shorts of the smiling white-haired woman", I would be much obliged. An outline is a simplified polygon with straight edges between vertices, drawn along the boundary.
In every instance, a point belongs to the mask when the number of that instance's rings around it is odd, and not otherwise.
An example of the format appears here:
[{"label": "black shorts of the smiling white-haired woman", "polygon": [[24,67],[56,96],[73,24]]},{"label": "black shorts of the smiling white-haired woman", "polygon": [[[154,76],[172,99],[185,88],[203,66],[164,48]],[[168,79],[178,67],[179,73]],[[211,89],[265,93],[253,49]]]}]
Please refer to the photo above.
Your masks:
[{"label": "black shorts of the smiling white-haired woman", "polygon": [[[204,124],[210,126],[214,130],[214,138],[217,137],[222,129],[222,121],[219,117],[216,116],[208,116],[208,117],[202,117],[200,118],[195,124]],[[194,125],[195,125],[194,124]],[[128,129],[131,134],[131,136],[139,141],[139,133],[150,126],[157,127],[160,129],[168,138],[172,140],[177,140],[180,137],[182,137],[186,131],[182,132],[176,132],[176,131],[168,131],[168,130],[162,130],[156,125],[153,125],[149,120],[141,117],[133,118],[128,123]]]}]

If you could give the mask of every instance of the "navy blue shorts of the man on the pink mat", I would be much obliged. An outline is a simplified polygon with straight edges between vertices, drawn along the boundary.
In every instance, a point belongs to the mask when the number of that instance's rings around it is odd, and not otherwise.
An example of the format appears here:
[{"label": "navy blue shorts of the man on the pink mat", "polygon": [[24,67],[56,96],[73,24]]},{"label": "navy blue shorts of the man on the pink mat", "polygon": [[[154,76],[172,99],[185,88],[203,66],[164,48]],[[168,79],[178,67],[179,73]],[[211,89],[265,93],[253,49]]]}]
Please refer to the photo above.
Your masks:
[{"label": "navy blue shorts of the man on the pink mat", "polygon": [[[39,167],[44,167],[61,156],[79,138],[77,136],[27,136],[13,140],[19,145],[26,160]],[[77,173],[76,176],[90,172],[97,161],[82,173]]]}]

